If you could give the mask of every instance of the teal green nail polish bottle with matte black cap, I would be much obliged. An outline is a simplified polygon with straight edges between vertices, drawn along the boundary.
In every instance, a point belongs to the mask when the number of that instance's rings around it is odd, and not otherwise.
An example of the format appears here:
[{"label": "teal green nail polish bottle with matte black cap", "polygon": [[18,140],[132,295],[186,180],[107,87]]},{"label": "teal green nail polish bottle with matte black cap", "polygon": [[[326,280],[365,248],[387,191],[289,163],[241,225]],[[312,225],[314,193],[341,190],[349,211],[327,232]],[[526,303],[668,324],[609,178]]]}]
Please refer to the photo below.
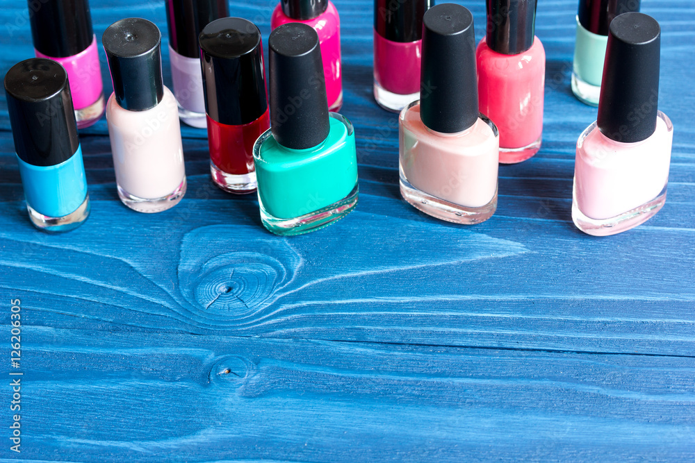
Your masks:
[{"label": "teal green nail polish bottle with matte black cap", "polygon": [[354,130],[328,111],[313,28],[284,24],[268,46],[270,130],[254,146],[261,221],[277,235],[300,235],[357,204]]}]

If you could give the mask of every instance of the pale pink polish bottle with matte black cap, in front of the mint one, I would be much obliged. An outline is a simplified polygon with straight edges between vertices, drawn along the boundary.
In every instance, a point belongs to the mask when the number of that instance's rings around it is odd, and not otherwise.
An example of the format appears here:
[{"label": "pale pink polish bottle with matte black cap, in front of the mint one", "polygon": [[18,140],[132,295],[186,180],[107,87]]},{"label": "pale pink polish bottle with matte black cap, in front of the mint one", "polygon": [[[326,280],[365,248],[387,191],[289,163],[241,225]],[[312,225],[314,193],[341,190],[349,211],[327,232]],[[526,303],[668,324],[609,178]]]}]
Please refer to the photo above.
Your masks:
[{"label": "pale pink polish bottle with matte black cap, in front of the mint one", "polygon": [[610,24],[598,119],[577,142],[572,219],[614,235],[666,202],[673,126],[659,103],[660,27],[639,12]]}]

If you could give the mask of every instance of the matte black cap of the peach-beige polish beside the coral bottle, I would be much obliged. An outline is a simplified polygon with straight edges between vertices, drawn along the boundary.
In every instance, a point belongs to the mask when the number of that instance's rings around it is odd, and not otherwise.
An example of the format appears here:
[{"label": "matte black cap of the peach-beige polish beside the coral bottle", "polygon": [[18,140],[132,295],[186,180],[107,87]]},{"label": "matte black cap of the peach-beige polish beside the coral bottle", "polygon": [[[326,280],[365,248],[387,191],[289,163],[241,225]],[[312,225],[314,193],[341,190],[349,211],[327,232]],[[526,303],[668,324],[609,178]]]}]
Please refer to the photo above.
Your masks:
[{"label": "matte black cap of the peach-beige polish beside the coral bottle", "polygon": [[423,19],[420,117],[435,132],[457,133],[478,118],[473,15],[441,3]]}]

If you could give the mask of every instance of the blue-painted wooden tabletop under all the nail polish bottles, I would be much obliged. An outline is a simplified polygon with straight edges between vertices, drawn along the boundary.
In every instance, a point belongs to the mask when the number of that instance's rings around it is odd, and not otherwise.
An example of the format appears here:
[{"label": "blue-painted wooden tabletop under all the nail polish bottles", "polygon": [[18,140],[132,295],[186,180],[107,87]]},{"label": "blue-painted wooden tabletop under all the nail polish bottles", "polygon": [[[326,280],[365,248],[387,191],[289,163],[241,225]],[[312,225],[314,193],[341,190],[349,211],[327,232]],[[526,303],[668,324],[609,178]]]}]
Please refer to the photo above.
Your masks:
[{"label": "blue-painted wooden tabletop under all the nail polish bottles", "polygon": [[[104,119],[80,134],[90,219],[40,233],[26,217],[3,95],[0,457],[692,461],[692,2],[642,2],[662,25],[669,198],[646,224],[606,238],[570,217],[575,142],[596,119],[569,90],[576,0],[540,1],[543,148],[500,167],[498,211],[471,227],[400,199],[396,117],[372,98],[372,1],[335,3],[360,199],[309,235],[271,235],[254,195],[214,187],[205,133],[193,128],[183,128],[183,201],[160,214],[125,208]],[[484,1],[461,3],[482,37]],[[33,47],[25,4],[0,5],[4,75]],[[232,1],[231,13],[267,43],[274,6]],[[162,1],[92,0],[97,37],[129,16],[165,31]],[[20,369],[10,367],[13,299]],[[10,411],[16,378],[21,412]],[[10,451],[17,413],[21,453]]]}]

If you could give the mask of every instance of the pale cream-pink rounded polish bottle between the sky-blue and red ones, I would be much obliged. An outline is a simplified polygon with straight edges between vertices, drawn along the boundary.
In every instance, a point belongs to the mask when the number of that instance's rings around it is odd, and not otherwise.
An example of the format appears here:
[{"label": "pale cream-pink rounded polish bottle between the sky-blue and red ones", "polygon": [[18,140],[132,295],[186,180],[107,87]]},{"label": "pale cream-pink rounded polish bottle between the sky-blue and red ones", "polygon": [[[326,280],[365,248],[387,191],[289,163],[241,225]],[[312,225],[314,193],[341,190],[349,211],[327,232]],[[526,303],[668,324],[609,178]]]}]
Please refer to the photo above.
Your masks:
[{"label": "pale cream-pink rounded polish bottle between the sky-blue and red ones", "polygon": [[138,212],[161,212],[186,193],[179,110],[162,83],[161,33],[127,18],[101,38],[113,94],[106,103],[118,196]]}]

